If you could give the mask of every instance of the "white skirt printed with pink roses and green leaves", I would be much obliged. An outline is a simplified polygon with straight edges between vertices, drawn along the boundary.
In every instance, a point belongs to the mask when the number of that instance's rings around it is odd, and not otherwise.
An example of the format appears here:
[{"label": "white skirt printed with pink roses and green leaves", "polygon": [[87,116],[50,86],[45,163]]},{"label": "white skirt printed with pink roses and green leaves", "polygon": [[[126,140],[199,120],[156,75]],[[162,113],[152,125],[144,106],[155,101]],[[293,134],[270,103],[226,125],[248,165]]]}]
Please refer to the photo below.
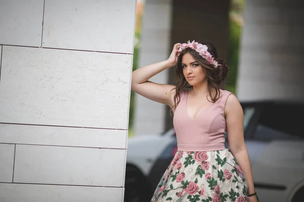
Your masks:
[{"label": "white skirt printed with pink roses and green leaves", "polygon": [[229,149],[177,151],[151,202],[249,201],[245,175]]}]

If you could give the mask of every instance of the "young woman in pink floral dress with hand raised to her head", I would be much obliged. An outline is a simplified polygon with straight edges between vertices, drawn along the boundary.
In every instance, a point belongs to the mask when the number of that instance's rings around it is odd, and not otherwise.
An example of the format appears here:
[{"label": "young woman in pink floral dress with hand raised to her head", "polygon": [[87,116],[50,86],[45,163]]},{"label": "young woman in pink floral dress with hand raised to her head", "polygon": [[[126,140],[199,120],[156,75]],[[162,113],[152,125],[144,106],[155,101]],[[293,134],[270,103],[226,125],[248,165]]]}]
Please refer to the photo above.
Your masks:
[{"label": "young woman in pink floral dress with hand raised to her head", "polygon": [[[148,81],[175,65],[176,86]],[[176,43],[168,60],[133,72],[132,90],[174,114],[178,150],[151,201],[258,201],[243,110],[233,93],[221,89],[227,71],[214,45],[188,41]],[[230,149],[224,147],[226,131]]]}]

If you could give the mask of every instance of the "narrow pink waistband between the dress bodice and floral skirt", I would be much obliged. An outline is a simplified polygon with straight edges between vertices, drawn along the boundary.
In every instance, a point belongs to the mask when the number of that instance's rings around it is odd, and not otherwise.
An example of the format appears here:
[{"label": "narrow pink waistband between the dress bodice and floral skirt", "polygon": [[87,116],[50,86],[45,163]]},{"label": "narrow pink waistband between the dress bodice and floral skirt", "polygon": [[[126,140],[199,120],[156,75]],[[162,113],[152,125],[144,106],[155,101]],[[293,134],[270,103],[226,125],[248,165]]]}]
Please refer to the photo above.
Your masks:
[{"label": "narrow pink waistband between the dress bodice and floral skirt", "polygon": [[224,143],[216,144],[177,144],[180,151],[215,151],[225,149]]}]

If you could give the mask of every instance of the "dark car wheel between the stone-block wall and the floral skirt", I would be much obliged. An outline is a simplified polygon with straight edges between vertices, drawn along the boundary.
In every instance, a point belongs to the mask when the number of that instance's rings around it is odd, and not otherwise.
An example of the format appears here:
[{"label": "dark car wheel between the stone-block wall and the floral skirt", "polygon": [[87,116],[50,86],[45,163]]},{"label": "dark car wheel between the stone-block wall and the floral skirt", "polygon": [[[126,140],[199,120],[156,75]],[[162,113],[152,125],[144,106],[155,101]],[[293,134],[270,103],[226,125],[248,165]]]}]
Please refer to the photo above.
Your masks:
[{"label": "dark car wheel between the stone-block wall and the floral skirt", "polygon": [[134,166],[127,165],[124,202],[149,201],[151,188],[145,176]]}]

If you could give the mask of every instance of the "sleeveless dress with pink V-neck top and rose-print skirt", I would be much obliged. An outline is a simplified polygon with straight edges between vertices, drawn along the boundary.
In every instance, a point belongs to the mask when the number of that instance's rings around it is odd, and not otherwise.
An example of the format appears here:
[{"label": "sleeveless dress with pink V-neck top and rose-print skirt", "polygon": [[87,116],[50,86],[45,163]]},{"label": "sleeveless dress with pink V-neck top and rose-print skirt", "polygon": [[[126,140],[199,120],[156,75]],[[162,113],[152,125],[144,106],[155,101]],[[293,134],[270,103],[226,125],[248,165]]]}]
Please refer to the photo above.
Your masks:
[{"label": "sleeveless dress with pink V-neck top and rose-print skirt", "polygon": [[177,152],[151,202],[249,201],[245,175],[224,146],[224,108],[231,92],[220,92],[217,102],[203,109],[195,119],[186,109],[188,90],[180,92],[173,117]]}]

